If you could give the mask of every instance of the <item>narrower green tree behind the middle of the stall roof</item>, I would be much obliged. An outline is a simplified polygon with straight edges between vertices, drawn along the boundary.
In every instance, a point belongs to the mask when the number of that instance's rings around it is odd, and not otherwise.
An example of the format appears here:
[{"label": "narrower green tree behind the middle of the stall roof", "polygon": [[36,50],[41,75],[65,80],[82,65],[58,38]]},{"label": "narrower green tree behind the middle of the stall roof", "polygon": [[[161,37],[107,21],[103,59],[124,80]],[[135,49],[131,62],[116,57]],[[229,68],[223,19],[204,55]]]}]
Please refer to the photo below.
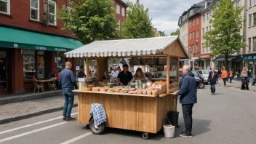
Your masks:
[{"label": "narrower green tree behind the middle of the stall roof", "polygon": [[136,3],[128,1],[129,10],[127,19],[121,25],[121,38],[139,39],[154,37],[153,26],[148,15],[148,9],[144,9],[143,4],[137,0]]}]

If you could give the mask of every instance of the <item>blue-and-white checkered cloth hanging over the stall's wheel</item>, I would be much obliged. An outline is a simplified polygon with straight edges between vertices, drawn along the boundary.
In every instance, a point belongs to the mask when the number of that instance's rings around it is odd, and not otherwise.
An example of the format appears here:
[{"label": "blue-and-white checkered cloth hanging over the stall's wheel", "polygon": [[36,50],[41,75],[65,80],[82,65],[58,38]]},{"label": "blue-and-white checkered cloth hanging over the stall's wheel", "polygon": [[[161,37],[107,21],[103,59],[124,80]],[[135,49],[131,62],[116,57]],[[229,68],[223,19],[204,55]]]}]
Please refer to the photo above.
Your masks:
[{"label": "blue-and-white checkered cloth hanging over the stall's wheel", "polygon": [[100,103],[92,103],[90,114],[93,116],[96,127],[107,120],[104,107]]}]

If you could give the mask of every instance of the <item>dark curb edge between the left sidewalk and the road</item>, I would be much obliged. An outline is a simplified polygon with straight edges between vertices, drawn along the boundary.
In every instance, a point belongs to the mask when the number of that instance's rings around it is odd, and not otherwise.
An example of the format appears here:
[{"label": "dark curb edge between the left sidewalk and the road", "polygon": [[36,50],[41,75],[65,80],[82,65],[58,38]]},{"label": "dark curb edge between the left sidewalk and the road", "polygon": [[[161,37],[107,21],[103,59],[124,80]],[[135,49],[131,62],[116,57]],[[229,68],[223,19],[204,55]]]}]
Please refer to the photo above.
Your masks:
[{"label": "dark curb edge between the left sidewalk and the road", "polygon": [[[77,107],[77,105],[78,105],[77,103],[73,104],[73,108]],[[0,124],[7,124],[7,123],[10,123],[10,122],[13,122],[13,121],[20,121],[22,119],[28,119],[28,118],[31,118],[31,117],[34,117],[34,116],[40,116],[40,115],[43,115],[43,114],[53,113],[55,111],[61,111],[61,110],[63,110],[63,106],[58,107],[58,108],[52,108],[52,109],[49,109],[49,110],[38,111],[38,112],[35,112],[35,113],[28,113],[28,114],[25,114],[23,116],[11,117],[11,118],[7,118],[7,119],[0,119]]]}]

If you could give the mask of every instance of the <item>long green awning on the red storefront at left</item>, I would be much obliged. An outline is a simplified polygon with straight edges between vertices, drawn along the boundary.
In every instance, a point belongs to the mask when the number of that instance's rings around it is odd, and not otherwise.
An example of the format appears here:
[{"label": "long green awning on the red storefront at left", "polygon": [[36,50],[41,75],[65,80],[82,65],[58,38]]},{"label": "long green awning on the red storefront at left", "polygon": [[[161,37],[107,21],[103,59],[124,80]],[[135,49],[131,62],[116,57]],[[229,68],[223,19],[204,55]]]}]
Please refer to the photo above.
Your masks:
[{"label": "long green awning on the red storefront at left", "polygon": [[0,26],[0,47],[68,52],[83,45],[76,39]]}]

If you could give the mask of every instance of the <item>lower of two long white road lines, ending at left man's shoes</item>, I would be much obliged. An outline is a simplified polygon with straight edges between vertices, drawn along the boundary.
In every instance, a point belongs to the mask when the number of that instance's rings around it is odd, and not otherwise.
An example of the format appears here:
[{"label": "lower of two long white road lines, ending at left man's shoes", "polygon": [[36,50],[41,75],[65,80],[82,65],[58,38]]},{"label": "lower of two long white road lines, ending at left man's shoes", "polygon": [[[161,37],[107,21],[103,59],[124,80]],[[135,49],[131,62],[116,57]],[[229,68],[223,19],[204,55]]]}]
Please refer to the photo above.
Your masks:
[{"label": "lower of two long white road lines, ending at left man's shoes", "polygon": [[33,134],[33,133],[35,133],[35,132],[39,132],[39,131],[42,131],[42,130],[45,130],[45,129],[50,129],[50,128],[52,128],[52,127],[57,127],[57,126],[60,126],[61,124],[65,124],[65,123],[68,123],[68,121],[63,121],[63,122],[58,123],[58,124],[52,124],[52,125],[50,125],[50,126],[48,126],[48,127],[42,127],[42,128],[40,128],[40,129],[35,129],[35,130],[30,131],[30,132],[22,133],[22,134],[20,134],[20,135],[14,135],[14,136],[12,136],[12,137],[7,137],[7,138],[4,138],[4,139],[1,139],[1,140],[0,140],[0,143],[3,143],[3,142],[5,142],[5,141],[7,141],[7,140],[15,139],[15,138],[17,138],[17,137],[23,137],[23,136],[25,136],[25,135],[30,135],[30,134]]}]

